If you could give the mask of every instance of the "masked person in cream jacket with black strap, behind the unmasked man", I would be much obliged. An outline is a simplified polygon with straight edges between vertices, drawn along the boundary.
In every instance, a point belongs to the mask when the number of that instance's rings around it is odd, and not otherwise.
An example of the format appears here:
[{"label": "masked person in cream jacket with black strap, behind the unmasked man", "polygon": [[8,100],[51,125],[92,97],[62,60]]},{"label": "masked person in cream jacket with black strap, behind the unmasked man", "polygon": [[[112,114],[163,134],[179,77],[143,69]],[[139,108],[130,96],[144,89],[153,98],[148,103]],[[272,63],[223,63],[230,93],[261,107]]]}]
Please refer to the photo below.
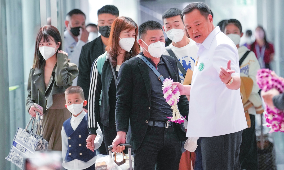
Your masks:
[{"label": "masked person in cream jacket with black strap, behind the unmasked man", "polygon": [[242,144],[240,148],[241,169],[257,170],[257,148],[255,136],[255,117],[256,113],[262,113],[262,101],[258,94],[259,88],[256,83],[256,73],[260,65],[254,52],[246,46],[239,46],[240,38],[243,36],[242,25],[236,19],[230,19],[225,24],[225,34],[234,42],[239,52],[240,76],[249,77],[253,81],[252,92],[249,100],[244,104],[245,112],[249,113],[251,127],[243,130]]}]

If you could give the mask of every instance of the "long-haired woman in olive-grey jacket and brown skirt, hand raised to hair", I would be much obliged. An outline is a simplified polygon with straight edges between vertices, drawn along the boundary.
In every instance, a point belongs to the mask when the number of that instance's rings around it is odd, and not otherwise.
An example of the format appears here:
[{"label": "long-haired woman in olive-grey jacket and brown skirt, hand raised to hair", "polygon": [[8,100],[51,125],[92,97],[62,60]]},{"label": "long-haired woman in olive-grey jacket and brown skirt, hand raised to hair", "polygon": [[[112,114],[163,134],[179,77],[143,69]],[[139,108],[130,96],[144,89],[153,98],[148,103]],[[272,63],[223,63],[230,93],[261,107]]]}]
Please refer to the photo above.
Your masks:
[{"label": "long-haired woman in olive-grey jacket and brown skirt, hand raised to hair", "polygon": [[[34,117],[35,111],[43,114],[43,138],[49,141],[50,150],[61,150],[61,128],[71,116],[65,108],[64,92],[79,74],[76,64],[68,62],[67,53],[61,46],[57,28],[52,25],[41,27],[28,79],[27,110]],[[34,103],[43,107],[43,112],[36,109]]]}]

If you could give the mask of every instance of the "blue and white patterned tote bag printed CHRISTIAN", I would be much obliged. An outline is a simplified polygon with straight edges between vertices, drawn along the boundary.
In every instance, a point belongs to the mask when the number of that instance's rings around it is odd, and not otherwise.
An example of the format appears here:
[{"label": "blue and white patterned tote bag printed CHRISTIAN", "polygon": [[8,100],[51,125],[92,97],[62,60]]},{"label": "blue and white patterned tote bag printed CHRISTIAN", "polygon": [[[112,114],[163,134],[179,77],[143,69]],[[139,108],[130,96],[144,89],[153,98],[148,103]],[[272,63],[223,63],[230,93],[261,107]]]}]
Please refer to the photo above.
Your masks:
[{"label": "blue and white patterned tote bag printed CHRISTIAN", "polygon": [[5,158],[19,168],[24,169],[25,159],[33,154],[37,148],[39,139],[27,132],[33,117],[30,118],[25,129],[18,128],[9,155]]}]

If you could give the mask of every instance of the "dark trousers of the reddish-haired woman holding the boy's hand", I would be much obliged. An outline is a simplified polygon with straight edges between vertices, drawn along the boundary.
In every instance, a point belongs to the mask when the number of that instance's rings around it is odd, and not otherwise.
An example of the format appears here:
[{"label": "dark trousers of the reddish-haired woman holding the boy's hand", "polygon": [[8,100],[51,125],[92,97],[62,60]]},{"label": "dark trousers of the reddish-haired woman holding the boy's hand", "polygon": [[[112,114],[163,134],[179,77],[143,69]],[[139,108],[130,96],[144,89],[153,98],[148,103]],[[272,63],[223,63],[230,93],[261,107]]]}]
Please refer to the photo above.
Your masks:
[{"label": "dark trousers of the reddish-haired woman holding the boy's hand", "polygon": [[104,126],[103,137],[105,142],[106,152],[108,153],[108,146],[112,145],[114,138],[116,137],[116,126]]}]

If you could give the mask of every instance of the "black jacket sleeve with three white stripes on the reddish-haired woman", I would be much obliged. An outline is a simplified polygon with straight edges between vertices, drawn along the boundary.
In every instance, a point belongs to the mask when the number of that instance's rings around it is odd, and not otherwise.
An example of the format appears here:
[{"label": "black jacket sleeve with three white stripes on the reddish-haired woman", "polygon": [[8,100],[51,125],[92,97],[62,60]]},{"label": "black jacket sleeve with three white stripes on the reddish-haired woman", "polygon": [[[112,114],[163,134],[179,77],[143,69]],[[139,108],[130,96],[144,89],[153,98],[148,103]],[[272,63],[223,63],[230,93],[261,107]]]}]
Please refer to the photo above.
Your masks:
[{"label": "black jacket sleeve with three white stripes on the reddish-haired woman", "polygon": [[89,134],[96,134],[97,118],[99,116],[99,101],[102,91],[101,75],[97,69],[97,59],[94,61],[91,67],[90,77],[90,88],[89,88],[89,104],[88,104],[88,129]]}]

